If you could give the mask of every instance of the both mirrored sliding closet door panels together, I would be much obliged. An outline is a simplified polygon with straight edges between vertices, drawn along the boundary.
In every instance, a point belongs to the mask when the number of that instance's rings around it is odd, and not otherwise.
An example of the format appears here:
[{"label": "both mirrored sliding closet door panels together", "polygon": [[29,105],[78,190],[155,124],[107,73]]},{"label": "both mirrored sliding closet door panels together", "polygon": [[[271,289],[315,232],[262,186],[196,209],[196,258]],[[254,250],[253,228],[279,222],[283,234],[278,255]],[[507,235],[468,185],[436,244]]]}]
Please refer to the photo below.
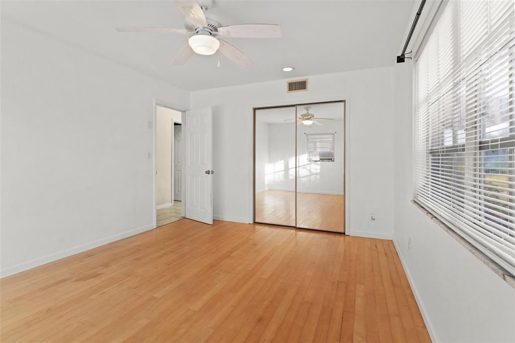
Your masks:
[{"label": "both mirrored sliding closet door panels together", "polygon": [[254,222],[345,232],[345,101],[254,108]]}]

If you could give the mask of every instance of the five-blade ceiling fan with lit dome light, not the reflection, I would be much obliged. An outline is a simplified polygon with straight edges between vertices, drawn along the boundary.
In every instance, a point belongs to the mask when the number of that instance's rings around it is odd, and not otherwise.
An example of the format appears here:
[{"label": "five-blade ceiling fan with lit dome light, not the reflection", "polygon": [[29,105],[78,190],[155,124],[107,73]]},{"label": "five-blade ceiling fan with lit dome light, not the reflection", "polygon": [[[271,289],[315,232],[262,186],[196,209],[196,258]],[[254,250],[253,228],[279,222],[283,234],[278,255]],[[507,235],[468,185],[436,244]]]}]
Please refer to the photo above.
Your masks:
[{"label": "five-blade ceiling fan with lit dome light, not the reflection", "polygon": [[117,27],[118,32],[163,32],[191,35],[188,43],[182,47],[171,62],[183,65],[193,54],[213,55],[220,51],[233,63],[246,68],[254,62],[235,46],[221,39],[224,38],[280,38],[281,28],[273,24],[239,24],[222,26],[218,16],[208,12],[213,0],[173,0],[184,14],[185,29],[165,27]]}]

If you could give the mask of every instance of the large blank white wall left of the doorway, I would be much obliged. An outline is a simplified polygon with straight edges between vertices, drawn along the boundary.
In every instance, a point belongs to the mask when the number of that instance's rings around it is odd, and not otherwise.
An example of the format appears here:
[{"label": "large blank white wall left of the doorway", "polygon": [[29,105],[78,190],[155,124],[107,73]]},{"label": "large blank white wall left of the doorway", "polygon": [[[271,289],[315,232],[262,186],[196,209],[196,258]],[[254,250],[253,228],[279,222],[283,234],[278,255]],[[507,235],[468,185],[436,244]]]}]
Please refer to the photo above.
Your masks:
[{"label": "large blank white wall left of the doorway", "polygon": [[153,99],[187,108],[189,93],[5,18],[1,29],[2,275],[152,228]]}]

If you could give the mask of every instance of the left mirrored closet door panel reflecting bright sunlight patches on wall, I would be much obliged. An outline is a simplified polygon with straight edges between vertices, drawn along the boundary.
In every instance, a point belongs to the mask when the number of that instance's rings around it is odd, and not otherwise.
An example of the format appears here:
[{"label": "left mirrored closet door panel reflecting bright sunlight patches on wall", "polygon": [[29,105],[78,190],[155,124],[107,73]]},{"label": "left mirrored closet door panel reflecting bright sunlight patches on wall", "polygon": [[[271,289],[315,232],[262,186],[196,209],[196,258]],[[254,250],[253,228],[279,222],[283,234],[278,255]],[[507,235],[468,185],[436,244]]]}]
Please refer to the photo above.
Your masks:
[{"label": "left mirrored closet door panel reflecting bright sunlight patches on wall", "polygon": [[254,221],[295,226],[295,106],[254,113]]}]

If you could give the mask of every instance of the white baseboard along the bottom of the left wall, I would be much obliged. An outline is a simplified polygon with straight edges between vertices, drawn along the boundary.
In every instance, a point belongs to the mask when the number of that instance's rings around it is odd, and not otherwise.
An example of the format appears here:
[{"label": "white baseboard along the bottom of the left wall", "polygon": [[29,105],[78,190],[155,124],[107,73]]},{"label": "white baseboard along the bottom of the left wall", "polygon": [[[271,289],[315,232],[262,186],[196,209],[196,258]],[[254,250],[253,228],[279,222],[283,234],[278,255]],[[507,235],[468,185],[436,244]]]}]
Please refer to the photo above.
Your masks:
[{"label": "white baseboard along the bottom of the left wall", "polygon": [[74,254],[77,254],[79,252],[83,252],[83,251],[86,251],[86,250],[90,250],[90,249],[99,247],[101,245],[105,245],[105,244],[108,244],[108,243],[111,243],[111,242],[119,241],[120,239],[129,237],[129,236],[133,236],[135,234],[138,234],[138,233],[141,233],[141,232],[144,232],[144,231],[148,231],[148,230],[151,230],[153,228],[154,228],[153,225],[145,225],[145,226],[142,226],[142,227],[139,227],[139,228],[136,228],[136,229],[128,230],[128,231],[125,231],[125,232],[122,232],[122,233],[117,233],[117,234],[112,235],[112,236],[101,238],[101,239],[98,239],[97,241],[94,241],[94,242],[91,242],[91,243],[82,244],[82,245],[76,246],[74,248],[61,250],[59,252],[48,254],[48,255],[42,256],[42,257],[37,258],[37,259],[33,259],[33,260],[30,260],[30,261],[27,261],[27,262],[19,263],[19,264],[16,264],[14,266],[7,267],[7,268],[5,268],[3,270],[0,270],[0,278],[4,278],[4,277],[10,276],[10,275],[13,275],[13,274],[16,274],[16,273],[19,273],[19,272],[31,269],[31,268],[39,267],[41,265],[44,265],[44,264],[47,264],[47,263],[50,263],[50,262],[54,262],[54,261],[57,261],[57,260],[60,260],[60,259],[63,259],[65,257],[71,256],[71,255],[74,255]]}]

